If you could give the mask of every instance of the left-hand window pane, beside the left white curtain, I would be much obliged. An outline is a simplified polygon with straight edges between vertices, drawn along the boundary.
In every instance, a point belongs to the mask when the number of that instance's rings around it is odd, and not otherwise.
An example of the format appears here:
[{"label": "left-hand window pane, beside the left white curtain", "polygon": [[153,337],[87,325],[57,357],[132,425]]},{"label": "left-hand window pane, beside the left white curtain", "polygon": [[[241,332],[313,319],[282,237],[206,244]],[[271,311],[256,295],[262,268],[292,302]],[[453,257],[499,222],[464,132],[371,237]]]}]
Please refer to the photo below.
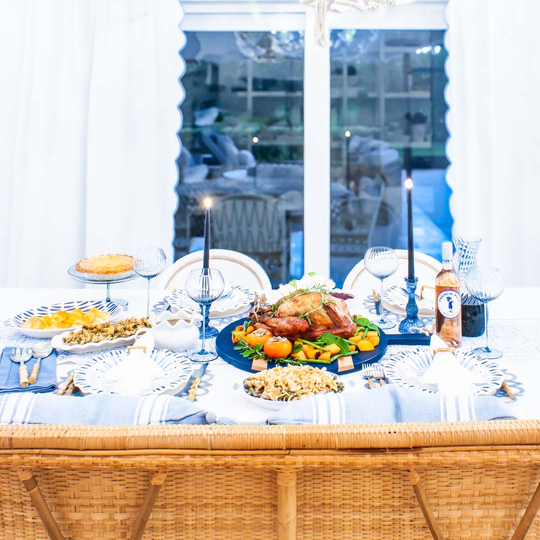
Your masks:
[{"label": "left-hand window pane, beside the left white curtain", "polygon": [[176,258],[203,246],[253,257],[274,285],[302,275],[303,37],[186,32]]}]

